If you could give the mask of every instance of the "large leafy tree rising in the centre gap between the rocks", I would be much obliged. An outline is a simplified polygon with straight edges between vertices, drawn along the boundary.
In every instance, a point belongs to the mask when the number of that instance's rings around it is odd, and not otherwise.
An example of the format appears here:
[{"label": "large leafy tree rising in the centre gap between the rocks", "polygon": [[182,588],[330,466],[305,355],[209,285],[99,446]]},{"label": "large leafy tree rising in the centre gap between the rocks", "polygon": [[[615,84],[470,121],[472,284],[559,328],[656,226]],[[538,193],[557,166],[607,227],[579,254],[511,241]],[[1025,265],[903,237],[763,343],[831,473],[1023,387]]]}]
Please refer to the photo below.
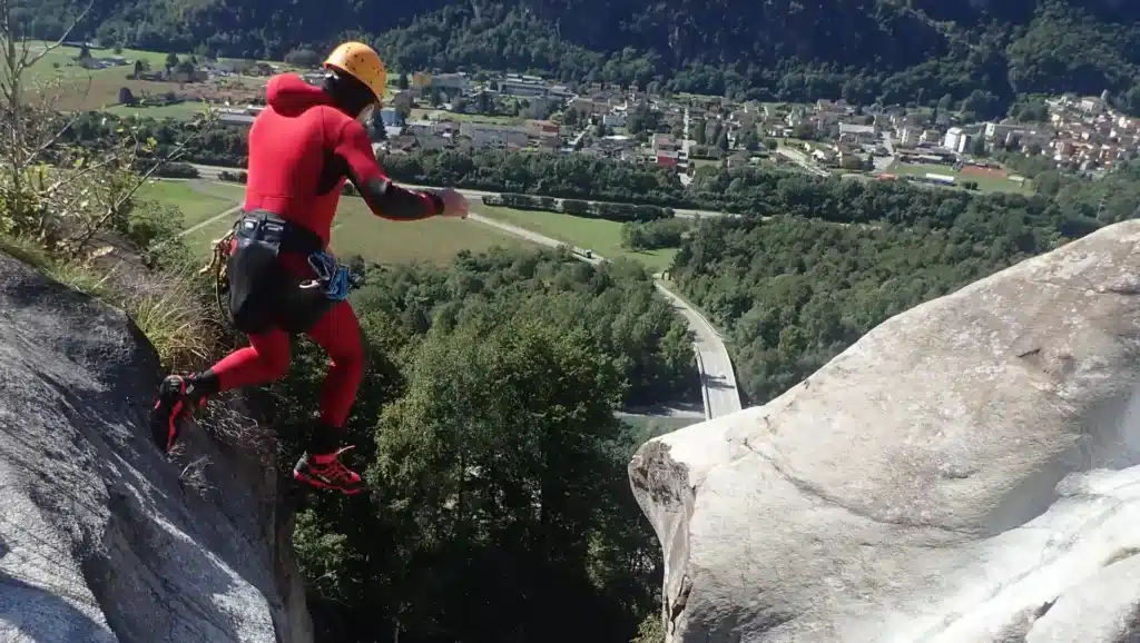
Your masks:
[{"label": "large leafy tree rising in the centre gap between the rocks", "polygon": [[[612,364],[583,333],[514,317],[433,331],[412,373],[407,396],[383,415],[369,470],[384,490],[380,512],[400,524],[390,583],[404,632],[569,641],[548,626],[597,604],[591,543],[608,526],[596,507],[628,496],[610,447],[621,437]],[[578,635],[595,641],[616,618],[628,635],[640,620],[591,613]]]}]

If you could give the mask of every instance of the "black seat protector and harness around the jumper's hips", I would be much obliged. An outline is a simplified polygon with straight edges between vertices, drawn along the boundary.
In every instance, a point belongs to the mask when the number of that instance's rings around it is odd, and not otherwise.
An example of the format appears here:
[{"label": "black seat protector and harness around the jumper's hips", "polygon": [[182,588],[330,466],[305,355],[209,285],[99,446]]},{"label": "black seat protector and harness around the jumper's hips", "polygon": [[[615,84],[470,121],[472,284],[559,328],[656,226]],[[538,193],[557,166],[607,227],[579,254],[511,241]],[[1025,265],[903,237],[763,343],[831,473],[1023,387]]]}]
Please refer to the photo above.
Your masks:
[{"label": "black seat protector and harness around the jumper's hips", "polygon": [[320,288],[307,287],[280,263],[282,252],[308,257],[319,251],[316,234],[270,212],[253,212],[238,219],[234,241],[226,274],[235,328],[247,334],[272,328],[303,333],[332,307]]}]

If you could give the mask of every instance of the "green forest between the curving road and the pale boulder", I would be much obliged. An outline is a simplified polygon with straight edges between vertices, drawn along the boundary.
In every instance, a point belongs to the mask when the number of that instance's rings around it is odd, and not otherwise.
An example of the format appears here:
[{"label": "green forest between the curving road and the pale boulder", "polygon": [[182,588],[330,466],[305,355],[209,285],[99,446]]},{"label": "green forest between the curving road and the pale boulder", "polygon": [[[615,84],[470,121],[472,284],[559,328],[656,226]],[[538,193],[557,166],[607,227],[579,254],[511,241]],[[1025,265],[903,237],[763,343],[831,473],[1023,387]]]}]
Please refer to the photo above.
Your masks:
[{"label": "green forest between the curving road and the pale boulder", "polygon": [[1056,201],[925,190],[898,200],[853,193],[844,203],[850,220],[878,211],[886,225],[719,219],[681,245],[673,278],[730,329],[739,382],[754,404],[803,381],[893,315],[1102,223],[1135,218],[1140,164],[1066,185]]}]

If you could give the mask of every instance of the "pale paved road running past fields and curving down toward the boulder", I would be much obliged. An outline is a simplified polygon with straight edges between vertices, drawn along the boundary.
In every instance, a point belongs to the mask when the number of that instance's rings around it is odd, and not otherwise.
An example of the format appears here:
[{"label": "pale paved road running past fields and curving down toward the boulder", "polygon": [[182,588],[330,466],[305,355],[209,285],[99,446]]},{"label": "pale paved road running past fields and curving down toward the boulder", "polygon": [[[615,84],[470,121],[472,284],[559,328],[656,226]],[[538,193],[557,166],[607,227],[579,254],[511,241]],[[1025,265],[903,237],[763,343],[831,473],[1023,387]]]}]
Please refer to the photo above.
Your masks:
[{"label": "pale paved road running past fields and curving down toward the boulder", "polygon": [[[557,239],[520,228],[519,226],[488,219],[480,214],[471,213],[469,218],[551,247],[568,245]],[[575,257],[595,266],[605,260],[605,258],[597,254],[587,258],[580,253],[575,253]],[[728,357],[728,349],[725,348],[720,334],[709,324],[708,319],[705,319],[705,316],[685,303],[669,291],[669,288],[665,287],[661,283],[657,283],[656,285],[661,291],[661,294],[673,303],[673,307],[685,317],[690,329],[693,331],[693,349],[697,352],[697,366],[701,376],[701,397],[705,399],[705,416],[711,420],[740,410],[740,391],[736,388],[736,376],[732,369],[732,359]]]}]

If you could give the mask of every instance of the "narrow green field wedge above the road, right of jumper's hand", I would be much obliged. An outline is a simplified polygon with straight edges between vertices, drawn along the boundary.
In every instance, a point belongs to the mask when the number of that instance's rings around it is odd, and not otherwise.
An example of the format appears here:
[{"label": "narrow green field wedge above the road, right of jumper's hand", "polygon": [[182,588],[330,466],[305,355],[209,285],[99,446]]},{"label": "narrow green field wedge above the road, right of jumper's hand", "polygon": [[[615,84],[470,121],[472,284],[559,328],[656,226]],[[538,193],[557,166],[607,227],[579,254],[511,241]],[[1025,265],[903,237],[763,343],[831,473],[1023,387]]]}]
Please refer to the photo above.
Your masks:
[{"label": "narrow green field wedge above the road, right of jumper's hand", "polygon": [[593,250],[606,259],[626,257],[641,261],[652,272],[673,264],[675,249],[637,252],[621,247],[621,223],[605,219],[571,217],[557,212],[532,212],[510,207],[491,207],[480,203],[473,210],[490,219],[504,221],[578,247]]}]

